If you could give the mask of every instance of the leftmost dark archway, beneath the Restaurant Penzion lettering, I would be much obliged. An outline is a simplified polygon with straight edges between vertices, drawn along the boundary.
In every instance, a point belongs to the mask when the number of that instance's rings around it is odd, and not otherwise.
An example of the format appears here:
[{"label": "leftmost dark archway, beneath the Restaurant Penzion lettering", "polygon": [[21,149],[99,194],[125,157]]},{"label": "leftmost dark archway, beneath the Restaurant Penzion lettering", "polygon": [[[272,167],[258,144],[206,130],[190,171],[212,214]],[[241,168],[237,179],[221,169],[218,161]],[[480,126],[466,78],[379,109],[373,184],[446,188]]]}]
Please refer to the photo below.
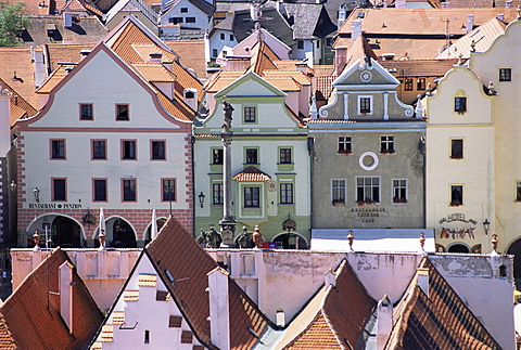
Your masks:
[{"label": "leftmost dark archway, beneath the Restaurant Penzion lettering", "polygon": [[35,230],[39,230],[40,245],[46,245],[46,228],[50,239],[49,247],[80,248],[87,244],[82,224],[75,218],[61,212],[46,212],[36,217],[27,225],[28,242]]}]

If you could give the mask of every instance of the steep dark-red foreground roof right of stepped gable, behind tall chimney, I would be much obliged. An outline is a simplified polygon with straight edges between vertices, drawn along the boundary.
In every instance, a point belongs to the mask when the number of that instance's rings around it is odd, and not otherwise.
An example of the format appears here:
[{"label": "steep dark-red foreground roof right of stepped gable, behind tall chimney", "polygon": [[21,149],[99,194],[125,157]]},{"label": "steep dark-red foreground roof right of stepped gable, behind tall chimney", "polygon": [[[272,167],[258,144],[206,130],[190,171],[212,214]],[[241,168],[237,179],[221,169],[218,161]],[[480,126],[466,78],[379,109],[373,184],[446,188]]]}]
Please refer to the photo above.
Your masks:
[{"label": "steep dark-red foreground roof right of stepped gable, behind tall chimney", "polygon": [[[218,267],[215,260],[173,217],[144,250],[194,335],[205,347],[215,349],[211,342],[206,291],[206,274]],[[182,280],[182,283],[174,286],[165,271],[175,280]],[[231,349],[251,349],[257,338],[249,329],[262,334],[269,321],[232,280],[229,280],[229,304]]]}]

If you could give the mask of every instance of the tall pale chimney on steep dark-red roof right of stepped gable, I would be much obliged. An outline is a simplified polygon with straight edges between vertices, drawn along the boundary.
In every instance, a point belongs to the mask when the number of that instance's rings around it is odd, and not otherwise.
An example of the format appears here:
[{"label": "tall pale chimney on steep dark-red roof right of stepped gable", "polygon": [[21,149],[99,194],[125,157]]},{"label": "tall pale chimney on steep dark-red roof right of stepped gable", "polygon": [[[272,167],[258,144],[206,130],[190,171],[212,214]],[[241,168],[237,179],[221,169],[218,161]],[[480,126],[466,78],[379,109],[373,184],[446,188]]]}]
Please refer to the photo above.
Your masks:
[{"label": "tall pale chimney on steep dark-red roof right of stepped gable", "polygon": [[221,268],[208,272],[209,334],[212,343],[223,350],[230,349],[230,301],[228,274]]}]

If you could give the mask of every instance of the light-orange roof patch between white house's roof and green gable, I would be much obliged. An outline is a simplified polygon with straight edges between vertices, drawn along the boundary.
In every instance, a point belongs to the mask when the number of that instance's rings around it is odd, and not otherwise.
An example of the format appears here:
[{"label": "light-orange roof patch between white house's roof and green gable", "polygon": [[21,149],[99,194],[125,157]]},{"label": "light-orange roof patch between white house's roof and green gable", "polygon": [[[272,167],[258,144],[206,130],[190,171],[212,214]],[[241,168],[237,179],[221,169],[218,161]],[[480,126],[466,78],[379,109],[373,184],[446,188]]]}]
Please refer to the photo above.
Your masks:
[{"label": "light-orange roof patch between white house's roof and green gable", "polygon": [[195,70],[198,79],[206,79],[206,63],[204,57],[204,40],[165,40],[174,52],[179,55],[179,63],[186,67]]}]

